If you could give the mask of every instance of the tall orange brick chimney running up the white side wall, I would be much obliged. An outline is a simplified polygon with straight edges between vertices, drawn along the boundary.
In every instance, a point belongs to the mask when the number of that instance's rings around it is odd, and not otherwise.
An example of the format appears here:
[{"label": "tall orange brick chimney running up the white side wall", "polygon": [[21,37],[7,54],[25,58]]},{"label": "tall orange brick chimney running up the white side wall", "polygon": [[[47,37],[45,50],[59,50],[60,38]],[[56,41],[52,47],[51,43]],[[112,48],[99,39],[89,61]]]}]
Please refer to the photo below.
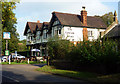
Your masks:
[{"label": "tall orange brick chimney running up the white side wall", "polygon": [[[82,7],[81,11],[81,22],[83,26],[87,26],[87,11],[85,10],[85,7]],[[88,31],[87,28],[83,28],[83,40],[88,40]]]}]

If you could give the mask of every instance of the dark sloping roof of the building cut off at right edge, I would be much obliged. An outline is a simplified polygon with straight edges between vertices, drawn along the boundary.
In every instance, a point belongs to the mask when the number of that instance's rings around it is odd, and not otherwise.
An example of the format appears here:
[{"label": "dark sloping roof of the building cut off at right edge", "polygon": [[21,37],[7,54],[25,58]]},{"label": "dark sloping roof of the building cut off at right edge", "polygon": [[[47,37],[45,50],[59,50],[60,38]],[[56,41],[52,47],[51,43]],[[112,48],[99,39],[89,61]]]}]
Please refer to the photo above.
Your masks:
[{"label": "dark sloping roof of the building cut off at right edge", "polygon": [[120,24],[112,28],[104,37],[108,38],[120,37]]}]

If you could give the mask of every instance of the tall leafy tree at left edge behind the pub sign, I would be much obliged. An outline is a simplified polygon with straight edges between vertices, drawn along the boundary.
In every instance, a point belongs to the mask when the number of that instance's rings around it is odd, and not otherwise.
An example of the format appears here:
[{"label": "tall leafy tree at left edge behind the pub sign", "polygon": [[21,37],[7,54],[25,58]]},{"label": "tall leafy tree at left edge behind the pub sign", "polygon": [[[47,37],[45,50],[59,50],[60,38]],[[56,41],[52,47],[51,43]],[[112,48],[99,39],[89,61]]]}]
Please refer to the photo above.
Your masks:
[{"label": "tall leafy tree at left edge behind the pub sign", "polygon": [[[11,39],[8,40],[8,49],[10,52],[14,52],[18,50],[18,36],[19,34],[16,32],[17,19],[15,17],[15,13],[13,10],[16,8],[16,2],[2,2],[2,33],[10,32]],[[5,39],[2,39],[2,53],[5,50]]]}]

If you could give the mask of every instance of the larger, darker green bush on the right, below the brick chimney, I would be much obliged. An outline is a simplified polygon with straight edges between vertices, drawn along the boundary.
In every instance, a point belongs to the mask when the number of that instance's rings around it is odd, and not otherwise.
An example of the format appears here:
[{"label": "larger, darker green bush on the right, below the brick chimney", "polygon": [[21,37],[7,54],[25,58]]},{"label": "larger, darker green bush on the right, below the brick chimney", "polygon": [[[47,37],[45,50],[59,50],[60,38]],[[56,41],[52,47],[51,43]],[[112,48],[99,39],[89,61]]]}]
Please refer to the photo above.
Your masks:
[{"label": "larger, darker green bush on the right, below the brick chimney", "polygon": [[[100,42],[83,42],[78,44],[70,53],[71,61],[79,64],[114,64],[119,61],[119,53],[116,51],[114,41]],[[73,57],[74,56],[74,57]]]}]

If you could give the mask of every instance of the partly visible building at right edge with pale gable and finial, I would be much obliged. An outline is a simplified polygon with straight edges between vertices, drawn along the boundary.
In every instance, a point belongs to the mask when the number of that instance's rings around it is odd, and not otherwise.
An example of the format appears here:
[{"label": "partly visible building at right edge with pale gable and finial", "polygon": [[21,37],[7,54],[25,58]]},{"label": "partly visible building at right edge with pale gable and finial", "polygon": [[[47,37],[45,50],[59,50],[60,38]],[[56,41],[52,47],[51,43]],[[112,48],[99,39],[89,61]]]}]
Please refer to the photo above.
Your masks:
[{"label": "partly visible building at right edge with pale gable and finial", "polygon": [[116,11],[114,12],[114,22],[103,32],[102,39],[115,41],[117,43],[116,49],[120,50],[120,24]]}]

